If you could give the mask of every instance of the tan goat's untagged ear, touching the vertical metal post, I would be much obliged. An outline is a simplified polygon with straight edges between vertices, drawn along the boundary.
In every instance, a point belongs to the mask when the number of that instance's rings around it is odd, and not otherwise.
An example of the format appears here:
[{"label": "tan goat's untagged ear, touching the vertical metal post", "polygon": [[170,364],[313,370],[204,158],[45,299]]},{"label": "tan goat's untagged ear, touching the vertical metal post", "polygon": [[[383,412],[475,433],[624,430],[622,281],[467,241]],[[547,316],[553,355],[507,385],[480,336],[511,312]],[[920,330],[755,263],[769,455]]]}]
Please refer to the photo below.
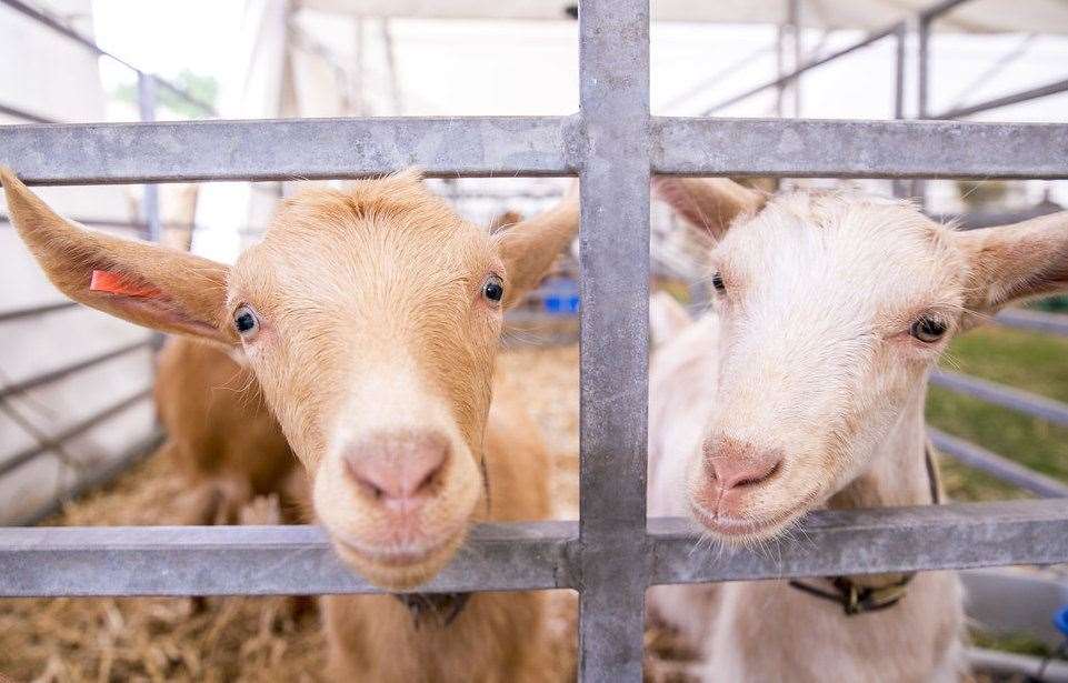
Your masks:
[{"label": "tan goat's untagged ear, touching the vertical metal post", "polygon": [[505,307],[538,287],[579,229],[578,182],[559,204],[497,233],[497,249],[508,271]]}]

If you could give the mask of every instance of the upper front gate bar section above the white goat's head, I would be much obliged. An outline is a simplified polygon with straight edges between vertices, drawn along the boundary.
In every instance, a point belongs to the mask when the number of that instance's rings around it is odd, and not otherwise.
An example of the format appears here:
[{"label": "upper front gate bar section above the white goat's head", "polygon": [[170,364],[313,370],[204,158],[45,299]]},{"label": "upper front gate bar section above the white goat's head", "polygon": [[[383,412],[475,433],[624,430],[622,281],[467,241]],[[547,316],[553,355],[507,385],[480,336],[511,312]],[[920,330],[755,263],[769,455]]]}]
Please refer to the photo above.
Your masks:
[{"label": "upper front gate bar section above the white goat's head", "polygon": [[1068,124],[653,120],[653,170],[792,178],[1068,178]]}]

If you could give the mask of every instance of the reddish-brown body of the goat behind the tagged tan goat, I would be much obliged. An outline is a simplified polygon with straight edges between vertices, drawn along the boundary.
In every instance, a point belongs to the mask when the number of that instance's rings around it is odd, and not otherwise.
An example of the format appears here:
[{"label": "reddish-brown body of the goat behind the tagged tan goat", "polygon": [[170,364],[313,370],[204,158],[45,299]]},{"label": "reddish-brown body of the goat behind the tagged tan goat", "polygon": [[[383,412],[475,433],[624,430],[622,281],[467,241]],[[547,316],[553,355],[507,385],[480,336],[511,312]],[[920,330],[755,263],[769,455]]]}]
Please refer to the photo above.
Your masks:
[{"label": "reddish-brown body of the goat behind the tagged tan goat", "polygon": [[184,502],[190,524],[232,524],[256,495],[275,494],[288,506],[296,504],[288,484],[297,458],[252,372],[230,353],[177,337],[157,361],[163,452],[189,482]]}]

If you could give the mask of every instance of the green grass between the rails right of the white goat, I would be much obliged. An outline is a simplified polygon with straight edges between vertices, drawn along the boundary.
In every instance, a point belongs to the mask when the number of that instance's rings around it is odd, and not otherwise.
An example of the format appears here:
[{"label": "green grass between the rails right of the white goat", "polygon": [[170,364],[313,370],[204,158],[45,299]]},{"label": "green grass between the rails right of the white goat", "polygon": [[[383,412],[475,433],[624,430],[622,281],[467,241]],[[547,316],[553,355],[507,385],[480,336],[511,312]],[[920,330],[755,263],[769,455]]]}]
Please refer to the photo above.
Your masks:
[{"label": "green grass between the rails right of the white goat", "polygon": [[[954,340],[941,365],[1068,403],[1068,338],[984,328]],[[1068,429],[938,388],[928,393],[927,420],[932,426],[1068,482]],[[942,471],[947,492],[956,500],[1026,495],[949,458],[942,458]]]}]

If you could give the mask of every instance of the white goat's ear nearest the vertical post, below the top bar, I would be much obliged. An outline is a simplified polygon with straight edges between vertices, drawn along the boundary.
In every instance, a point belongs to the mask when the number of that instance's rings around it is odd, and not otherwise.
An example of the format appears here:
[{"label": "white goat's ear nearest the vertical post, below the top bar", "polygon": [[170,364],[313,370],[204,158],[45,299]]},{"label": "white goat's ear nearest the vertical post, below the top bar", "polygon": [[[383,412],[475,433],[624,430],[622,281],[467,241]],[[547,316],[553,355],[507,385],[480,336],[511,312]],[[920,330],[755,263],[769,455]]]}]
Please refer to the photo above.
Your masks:
[{"label": "white goat's ear nearest the vertical post, below the top bar", "polygon": [[756,213],[767,197],[727,178],[676,178],[657,175],[652,179],[653,193],[666,201],[679,215],[720,239],[731,222],[742,213]]}]

